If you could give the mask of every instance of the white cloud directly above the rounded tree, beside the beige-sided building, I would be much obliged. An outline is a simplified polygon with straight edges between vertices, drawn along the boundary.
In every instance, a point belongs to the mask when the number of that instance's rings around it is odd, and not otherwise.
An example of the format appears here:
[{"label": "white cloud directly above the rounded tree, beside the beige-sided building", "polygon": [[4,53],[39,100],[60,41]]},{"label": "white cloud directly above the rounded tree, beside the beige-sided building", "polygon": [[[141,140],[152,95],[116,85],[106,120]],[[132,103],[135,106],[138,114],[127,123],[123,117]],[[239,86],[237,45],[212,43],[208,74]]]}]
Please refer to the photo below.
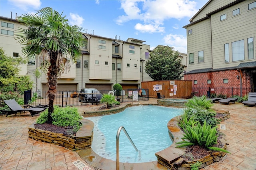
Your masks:
[{"label": "white cloud directly above the rounded tree, beside the beige-sided building", "polygon": [[187,38],[183,35],[168,34],[164,37],[165,45],[174,47],[175,51],[185,53],[187,51]]}]

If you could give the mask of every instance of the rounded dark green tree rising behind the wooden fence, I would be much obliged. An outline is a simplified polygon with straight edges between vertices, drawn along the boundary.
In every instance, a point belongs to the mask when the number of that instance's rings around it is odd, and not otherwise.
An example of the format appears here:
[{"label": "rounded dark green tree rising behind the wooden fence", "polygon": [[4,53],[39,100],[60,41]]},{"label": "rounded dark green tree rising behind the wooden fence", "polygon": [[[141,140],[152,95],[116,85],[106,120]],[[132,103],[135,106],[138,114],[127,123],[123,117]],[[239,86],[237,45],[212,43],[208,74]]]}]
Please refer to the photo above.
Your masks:
[{"label": "rounded dark green tree rising behind the wooden fence", "polygon": [[180,80],[183,68],[178,52],[168,46],[156,47],[145,64],[146,73],[154,80]]}]

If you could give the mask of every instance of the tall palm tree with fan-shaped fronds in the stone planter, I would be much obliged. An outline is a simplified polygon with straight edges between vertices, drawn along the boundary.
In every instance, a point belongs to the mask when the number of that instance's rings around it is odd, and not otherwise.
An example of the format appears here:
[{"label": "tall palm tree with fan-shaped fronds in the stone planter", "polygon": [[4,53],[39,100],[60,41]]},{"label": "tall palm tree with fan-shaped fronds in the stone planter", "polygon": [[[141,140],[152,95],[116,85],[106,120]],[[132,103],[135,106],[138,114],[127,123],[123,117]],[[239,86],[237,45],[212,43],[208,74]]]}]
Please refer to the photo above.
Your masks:
[{"label": "tall palm tree with fan-shaped fronds in the stone planter", "polygon": [[[62,12],[63,13],[63,12]],[[23,14],[17,17],[18,22],[26,28],[19,28],[15,36],[22,47],[22,53],[27,58],[42,57],[41,68],[47,72],[49,90],[48,122],[52,123],[51,113],[54,111],[53,103],[57,94],[57,78],[70,69],[70,61],[76,63],[82,53],[79,47],[86,41],[81,33],[82,28],[77,25],[68,25],[66,16],[62,17],[52,8],[42,8],[35,15]]]}]

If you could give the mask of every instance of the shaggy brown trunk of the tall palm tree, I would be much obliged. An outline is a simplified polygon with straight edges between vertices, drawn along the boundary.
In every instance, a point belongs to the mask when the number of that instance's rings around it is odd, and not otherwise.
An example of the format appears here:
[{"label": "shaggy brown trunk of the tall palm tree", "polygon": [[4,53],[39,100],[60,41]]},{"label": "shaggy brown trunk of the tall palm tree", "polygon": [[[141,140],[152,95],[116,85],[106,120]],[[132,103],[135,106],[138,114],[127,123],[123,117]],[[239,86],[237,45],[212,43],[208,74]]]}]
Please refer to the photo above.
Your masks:
[{"label": "shaggy brown trunk of the tall palm tree", "polygon": [[51,65],[48,68],[48,98],[49,98],[49,108],[48,108],[48,121],[47,123],[52,124],[52,113],[54,111],[53,103],[55,99],[55,95],[57,94],[56,86],[57,86],[57,76],[58,76],[58,68],[56,66],[58,53],[50,53],[50,63]]}]

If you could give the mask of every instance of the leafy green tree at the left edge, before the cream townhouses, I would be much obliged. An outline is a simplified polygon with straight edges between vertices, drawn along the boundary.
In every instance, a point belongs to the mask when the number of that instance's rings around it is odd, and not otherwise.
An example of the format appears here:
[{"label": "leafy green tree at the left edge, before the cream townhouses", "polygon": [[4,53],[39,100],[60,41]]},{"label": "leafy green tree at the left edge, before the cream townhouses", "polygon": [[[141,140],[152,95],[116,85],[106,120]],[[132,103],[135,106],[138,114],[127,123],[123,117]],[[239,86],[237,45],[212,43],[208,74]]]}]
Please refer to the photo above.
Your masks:
[{"label": "leafy green tree at the left edge, before the cream townhouses", "polygon": [[20,64],[25,64],[26,59],[22,57],[8,57],[0,48],[0,89],[1,92],[24,92],[32,88],[32,81],[26,74],[20,76]]}]

